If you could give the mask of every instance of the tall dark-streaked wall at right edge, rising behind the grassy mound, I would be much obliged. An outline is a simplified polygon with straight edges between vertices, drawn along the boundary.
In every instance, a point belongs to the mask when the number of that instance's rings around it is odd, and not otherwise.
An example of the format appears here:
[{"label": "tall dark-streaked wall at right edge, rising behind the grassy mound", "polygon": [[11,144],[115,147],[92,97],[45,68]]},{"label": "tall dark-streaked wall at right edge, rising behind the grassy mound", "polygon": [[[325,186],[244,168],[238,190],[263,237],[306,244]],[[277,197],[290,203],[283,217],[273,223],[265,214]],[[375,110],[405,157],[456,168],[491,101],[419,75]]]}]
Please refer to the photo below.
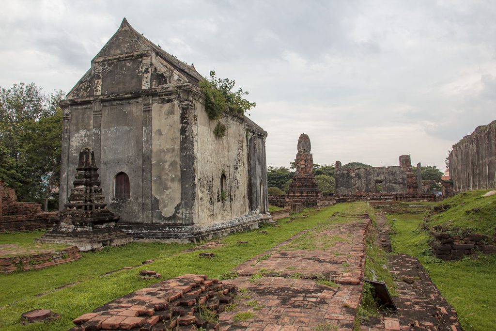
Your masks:
[{"label": "tall dark-streaked wall at right edge, rising behind the grassy mound", "polygon": [[491,189],[496,176],[496,121],[453,145],[448,157],[454,192]]}]

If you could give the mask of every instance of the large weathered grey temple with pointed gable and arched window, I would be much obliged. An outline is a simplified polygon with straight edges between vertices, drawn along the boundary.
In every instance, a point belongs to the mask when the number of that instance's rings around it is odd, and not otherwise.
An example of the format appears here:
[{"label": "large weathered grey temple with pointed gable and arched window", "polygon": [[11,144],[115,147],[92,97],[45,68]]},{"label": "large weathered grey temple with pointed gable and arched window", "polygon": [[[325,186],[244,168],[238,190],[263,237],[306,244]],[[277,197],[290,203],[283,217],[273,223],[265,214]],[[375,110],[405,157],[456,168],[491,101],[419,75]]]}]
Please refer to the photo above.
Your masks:
[{"label": "large weathered grey temple with pointed gable and arched window", "polygon": [[267,132],[226,114],[217,137],[202,79],[124,19],[62,102],[60,206],[90,148],[107,207],[135,239],[194,241],[270,217]]}]

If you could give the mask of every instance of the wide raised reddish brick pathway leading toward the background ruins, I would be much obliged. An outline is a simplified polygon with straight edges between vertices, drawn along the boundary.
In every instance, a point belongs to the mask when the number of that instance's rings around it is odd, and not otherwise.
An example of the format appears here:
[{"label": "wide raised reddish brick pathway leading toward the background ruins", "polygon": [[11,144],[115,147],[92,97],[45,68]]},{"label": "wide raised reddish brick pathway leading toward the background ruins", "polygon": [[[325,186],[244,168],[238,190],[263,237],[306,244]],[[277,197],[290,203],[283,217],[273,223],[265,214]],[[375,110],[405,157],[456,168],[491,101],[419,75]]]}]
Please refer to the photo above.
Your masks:
[{"label": "wide raised reddish brick pathway leading toward the background ruins", "polygon": [[353,330],[371,222],[367,214],[333,217],[343,222],[301,233],[235,268],[239,276],[223,282],[240,294],[236,308],[220,314],[220,330]]}]

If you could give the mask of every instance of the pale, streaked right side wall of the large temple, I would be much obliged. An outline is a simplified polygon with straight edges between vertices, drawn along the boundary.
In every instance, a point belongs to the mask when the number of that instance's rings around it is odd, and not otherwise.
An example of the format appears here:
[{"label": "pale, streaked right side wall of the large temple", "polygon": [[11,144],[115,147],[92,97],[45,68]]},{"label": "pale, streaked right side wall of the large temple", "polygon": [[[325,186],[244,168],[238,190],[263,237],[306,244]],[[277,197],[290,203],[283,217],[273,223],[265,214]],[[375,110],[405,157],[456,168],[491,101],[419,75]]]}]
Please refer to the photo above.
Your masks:
[{"label": "pale, streaked right side wall of the large temple", "polygon": [[[226,135],[216,137],[213,130],[216,121],[210,121],[204,106],[197,102],[198,126],[195,132],[196,182],[197,199],[195,205],[195,224],[208,226],[214,223],[230,220],[253,212],[262,212],[256,199],[266,199],[266,180],[264,181],[262,165],[253,166],[250,174],[248,166],[249,133],[241,119],[235,116],[225,116],[220,121],[226,125]],[[249,132],[249,130],[248,130]],[[264,152],[263,139],[252,138],[253,158]],[[260,160],[260,155],[258,155]],[[256,162],[256,161],[253,161]],[[221,198],[221,177],[226,176],[225,199]],[[250,183],[251,178],[253,183]],[[255,182],[262,181],[262,196],[260,184],[255,189]],[[249,190],[248,187],[252,190]],[[250,192],[251,193],[248,193]],[[252,198],[251,194],[255,197]],[[254,207],[250,208],[250,198]]]}]

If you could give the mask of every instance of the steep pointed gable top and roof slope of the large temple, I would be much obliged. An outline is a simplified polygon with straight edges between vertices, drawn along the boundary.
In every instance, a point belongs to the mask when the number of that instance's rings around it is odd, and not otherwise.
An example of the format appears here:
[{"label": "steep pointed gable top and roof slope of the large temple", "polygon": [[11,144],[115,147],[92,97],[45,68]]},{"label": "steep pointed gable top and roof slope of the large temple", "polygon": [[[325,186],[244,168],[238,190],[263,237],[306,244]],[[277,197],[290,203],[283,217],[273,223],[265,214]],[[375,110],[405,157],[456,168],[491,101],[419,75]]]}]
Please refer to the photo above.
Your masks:
[{"label": "steep pointed gable top and roof slope of the large temple", "polygon": [[203,79],[203,76],[196,71],[194,66],[189,66],[178,60],[134,30],[125,17],[121,23],[121,26],[119,26],[119,29],[117,29],[116,33],[95,56],[92,62],[102,57],[148,50],[153,51],[158,57],[163,59],[174,69],[186,75],[191,82],[198,83],[201,79]]}]

